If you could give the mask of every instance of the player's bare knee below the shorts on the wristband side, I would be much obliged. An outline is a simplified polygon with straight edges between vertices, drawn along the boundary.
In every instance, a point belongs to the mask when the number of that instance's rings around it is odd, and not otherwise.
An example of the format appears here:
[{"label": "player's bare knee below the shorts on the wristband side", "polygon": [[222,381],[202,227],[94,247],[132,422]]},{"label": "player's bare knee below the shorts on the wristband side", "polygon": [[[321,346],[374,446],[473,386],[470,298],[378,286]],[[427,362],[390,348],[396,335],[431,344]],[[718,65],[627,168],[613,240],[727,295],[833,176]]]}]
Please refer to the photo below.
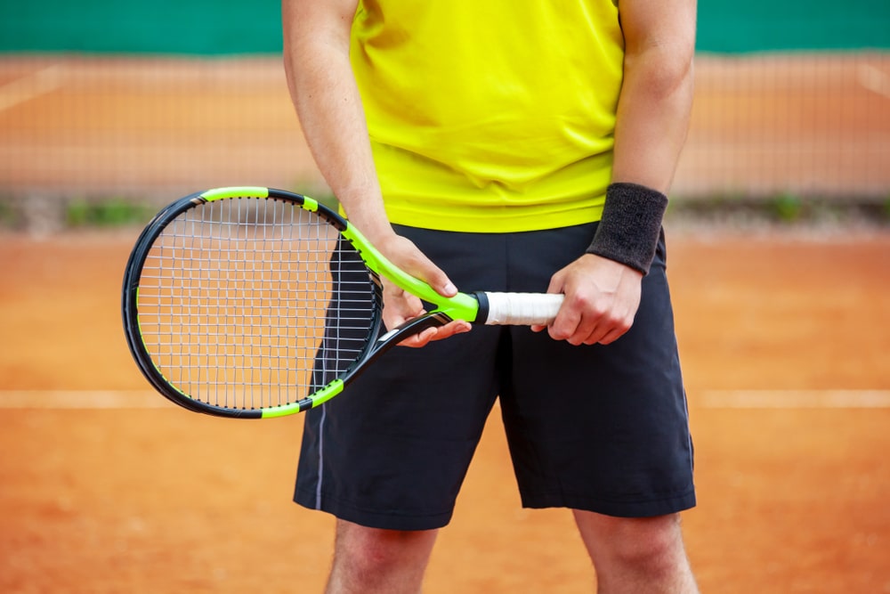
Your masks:
[{"label": "player's bare knee below the shorts on the wristband side", "polygon": [[574,511],[601,594],[698,592],[683,545],[680,517],[610,517]]}]

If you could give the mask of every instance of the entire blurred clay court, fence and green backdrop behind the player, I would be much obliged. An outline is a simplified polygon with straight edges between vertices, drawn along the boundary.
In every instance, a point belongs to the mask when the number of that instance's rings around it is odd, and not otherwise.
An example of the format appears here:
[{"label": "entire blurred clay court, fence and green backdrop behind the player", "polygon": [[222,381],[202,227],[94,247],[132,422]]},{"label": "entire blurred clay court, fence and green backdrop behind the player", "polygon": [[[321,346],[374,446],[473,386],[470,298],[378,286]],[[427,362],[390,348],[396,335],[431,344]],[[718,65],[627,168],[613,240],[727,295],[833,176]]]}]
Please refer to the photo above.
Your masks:
[{"label": "entire blurred clay court, fence and green backdrop behind the player", "polygon": [[[302,419],[175,409],[119,313],[158,207],[329,198],[281,45],[277,2],[0,4],[0,591],[323,589],[331,519],[289,500]],[[696,73],[666,225],[693,567],[721,594],[890,592],[890,2],[700,0]],[[591,591],[499,423],[425,591]]]}]

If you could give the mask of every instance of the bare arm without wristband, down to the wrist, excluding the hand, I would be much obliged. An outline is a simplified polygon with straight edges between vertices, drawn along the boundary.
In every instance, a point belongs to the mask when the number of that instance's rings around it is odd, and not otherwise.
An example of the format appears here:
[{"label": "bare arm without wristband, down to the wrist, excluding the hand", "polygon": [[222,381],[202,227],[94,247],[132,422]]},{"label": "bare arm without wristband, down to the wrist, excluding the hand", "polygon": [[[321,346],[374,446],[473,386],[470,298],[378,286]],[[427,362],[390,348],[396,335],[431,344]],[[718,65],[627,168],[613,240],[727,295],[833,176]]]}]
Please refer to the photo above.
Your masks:
[{"label": "bare arm without wristband, down to the wrist, excluding the hand", "polygon": [[337,14],[285,0],[285,72],[313,159],[352,223],[375,242],[392,234],[392,226],[386,220],[349,61],[354,3],[341,4]]}]

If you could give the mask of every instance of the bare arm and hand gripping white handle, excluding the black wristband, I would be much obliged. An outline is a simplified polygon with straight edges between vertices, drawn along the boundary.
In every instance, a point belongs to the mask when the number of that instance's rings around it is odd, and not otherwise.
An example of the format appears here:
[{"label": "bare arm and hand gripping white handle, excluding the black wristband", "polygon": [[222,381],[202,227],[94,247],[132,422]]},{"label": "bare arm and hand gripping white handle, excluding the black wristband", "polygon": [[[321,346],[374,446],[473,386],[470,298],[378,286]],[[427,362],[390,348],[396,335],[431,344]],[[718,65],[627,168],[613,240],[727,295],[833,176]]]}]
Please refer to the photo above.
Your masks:
[{"label": "bare arm and hand gripping white handle, excluding the black wristband", "polygon": [[[695,0],[620,0],[624,81],[615,130],[613,182],[667,194],[692,110]],[[643,274],[602,256],[581,256],[554,274],[566,295],[549,331],[571,344],[608,344],[634,322]]]}]

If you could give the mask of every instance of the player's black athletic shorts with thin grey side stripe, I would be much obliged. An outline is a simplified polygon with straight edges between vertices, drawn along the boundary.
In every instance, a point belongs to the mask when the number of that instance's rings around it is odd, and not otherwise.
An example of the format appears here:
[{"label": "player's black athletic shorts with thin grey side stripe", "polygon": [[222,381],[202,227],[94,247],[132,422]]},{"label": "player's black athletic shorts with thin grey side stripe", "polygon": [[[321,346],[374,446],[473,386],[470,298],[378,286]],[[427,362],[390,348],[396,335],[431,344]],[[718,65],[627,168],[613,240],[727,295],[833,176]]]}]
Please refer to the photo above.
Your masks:
[{"label": "player's black athletic shorts with thin grey side stripe", "polygon": [[[543,292],[595,228],[398,231],[461,290]],[[343,395],[304,413],[295,501],[369,527],[447,525],[498,397],[524,507],[651,517],[694,506],[663,237],[634,325],[611,345],[476,325],[385,354]]]}]

